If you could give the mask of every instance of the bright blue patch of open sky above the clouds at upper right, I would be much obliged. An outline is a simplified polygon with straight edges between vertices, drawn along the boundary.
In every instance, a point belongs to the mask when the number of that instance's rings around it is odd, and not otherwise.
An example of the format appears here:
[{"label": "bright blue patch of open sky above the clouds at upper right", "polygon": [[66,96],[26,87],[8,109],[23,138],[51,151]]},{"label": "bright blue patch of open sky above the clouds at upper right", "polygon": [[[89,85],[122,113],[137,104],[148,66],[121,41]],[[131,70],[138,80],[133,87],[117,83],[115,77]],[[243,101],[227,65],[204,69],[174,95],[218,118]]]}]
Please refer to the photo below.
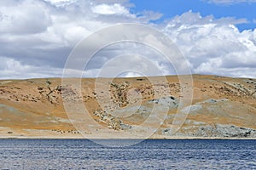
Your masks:
[{"label": "bright blue patch of open sky above the clouds at upper right", "polygon": [[163,14],[160,20],[170,19],[189,10],[200,13],[201,16],[213,15],[214,18],[234,17],[235,19],[247,19],[247,23],[239,24],[240,31],[254,29],[256,27],[256,3],[208,3],[202,0],[131,0],[135,6],[131,12],[137,14],[143,10],[152,10]]}]

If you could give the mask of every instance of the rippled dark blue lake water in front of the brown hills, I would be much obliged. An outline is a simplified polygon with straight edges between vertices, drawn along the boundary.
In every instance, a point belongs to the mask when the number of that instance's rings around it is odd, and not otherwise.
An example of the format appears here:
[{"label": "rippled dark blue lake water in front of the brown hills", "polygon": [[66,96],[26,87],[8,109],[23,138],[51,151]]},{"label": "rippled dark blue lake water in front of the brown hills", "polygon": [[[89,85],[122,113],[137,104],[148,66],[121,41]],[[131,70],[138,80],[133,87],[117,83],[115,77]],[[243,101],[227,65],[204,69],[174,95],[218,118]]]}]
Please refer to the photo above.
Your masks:
[{"label": "rippled dark blue lake water in front of the brown hills", "polygon": [[256,140],[148,139],[115,148],[86,139],[0,139],[0,169],[171,168],[256,169]]}]

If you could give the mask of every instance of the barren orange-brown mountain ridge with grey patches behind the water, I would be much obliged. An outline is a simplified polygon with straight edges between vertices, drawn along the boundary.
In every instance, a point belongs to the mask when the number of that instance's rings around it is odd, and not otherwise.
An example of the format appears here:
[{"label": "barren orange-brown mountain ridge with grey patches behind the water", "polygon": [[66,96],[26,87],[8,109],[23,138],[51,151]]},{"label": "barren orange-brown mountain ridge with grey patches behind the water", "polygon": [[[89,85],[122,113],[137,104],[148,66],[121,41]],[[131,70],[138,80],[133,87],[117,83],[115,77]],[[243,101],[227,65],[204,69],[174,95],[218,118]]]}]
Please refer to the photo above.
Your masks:
[{"label": "barren orange-brown mountain ridge with grey patches behind the water", "polygon": [[255,79],[192,78],[1,80],[0,137],[256,138]]}]

